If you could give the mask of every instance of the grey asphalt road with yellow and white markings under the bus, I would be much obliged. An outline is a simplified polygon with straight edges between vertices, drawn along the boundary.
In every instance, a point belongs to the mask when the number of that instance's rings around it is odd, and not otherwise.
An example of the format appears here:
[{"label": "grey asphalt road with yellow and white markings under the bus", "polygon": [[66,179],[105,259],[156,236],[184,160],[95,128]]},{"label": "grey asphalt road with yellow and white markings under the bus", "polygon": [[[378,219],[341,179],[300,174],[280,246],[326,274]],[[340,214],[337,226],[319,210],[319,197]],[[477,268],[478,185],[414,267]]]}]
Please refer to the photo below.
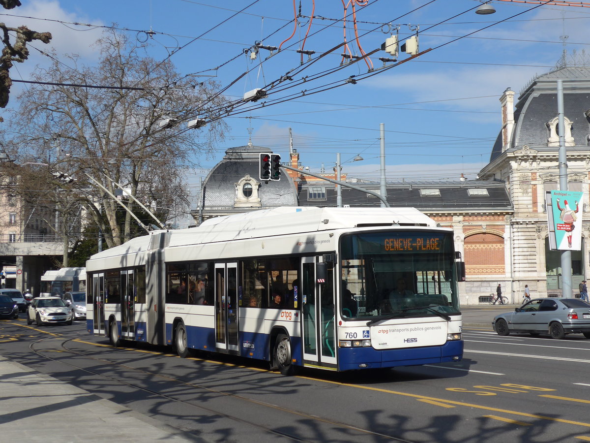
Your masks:
[{"label": "grey asphalt road with yellow and white markings under the bus", "polygon": [[490,324],[502,311],[466,308],[463,361],[395,370],[283,377],[264,363],[113,348],[81,322],[23,318],[0,321],[0,354],[195,441],[590,441],[590,340],[500,337]]}]

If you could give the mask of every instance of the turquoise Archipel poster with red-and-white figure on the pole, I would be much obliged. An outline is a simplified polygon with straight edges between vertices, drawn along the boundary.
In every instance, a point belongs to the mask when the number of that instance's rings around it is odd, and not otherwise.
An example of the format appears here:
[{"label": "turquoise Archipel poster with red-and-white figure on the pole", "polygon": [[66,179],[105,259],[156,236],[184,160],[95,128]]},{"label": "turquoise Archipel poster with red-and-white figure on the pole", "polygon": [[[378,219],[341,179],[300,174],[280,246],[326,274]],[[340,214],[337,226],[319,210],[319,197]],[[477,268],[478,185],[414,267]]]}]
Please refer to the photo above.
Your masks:
[{"label": "turquoise Archipel poster with red-and-white figure on the pole", "polygon": [[579,191],[547,191],[545,204],[551,250],[582,247],[582,196]]}]

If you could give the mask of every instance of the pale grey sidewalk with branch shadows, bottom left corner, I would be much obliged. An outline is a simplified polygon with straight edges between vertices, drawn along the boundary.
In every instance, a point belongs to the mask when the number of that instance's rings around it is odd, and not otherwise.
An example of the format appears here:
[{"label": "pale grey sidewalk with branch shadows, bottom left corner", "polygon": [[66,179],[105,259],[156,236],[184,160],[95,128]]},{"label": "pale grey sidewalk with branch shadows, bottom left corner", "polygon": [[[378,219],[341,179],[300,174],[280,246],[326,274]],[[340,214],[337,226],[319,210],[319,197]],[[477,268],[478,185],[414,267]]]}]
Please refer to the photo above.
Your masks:
[{"label": "pale grey sidewalk with branch shadows, bottom left corner", "polygon": [[0,356],[2,441],[186,442],[198,438]]}]

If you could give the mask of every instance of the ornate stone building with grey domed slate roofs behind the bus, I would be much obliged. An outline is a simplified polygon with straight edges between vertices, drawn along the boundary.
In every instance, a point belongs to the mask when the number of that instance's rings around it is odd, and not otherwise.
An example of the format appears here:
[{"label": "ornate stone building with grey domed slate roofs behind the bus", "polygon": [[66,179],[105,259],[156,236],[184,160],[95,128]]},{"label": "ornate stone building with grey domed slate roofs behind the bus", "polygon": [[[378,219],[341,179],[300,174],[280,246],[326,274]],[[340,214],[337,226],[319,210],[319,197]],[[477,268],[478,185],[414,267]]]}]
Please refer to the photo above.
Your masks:
[{"label": "ornate stone building with grey domed slate roofs behind the bus", "polygon": [[[455,248],[466,263],[461,302],[486,302],[501,284],[503,295],[522,301],[525,285],[534,297],[562,294],[560,252],[549,250],[545,191],[558,188],[558,107],[556,80],[565,89],[565,141],[569,190],[584,191],[589,209],[590,66],[562,66],[533,79],[517,97],[507,89],[500,97],[501,127],[491,147],[490,162],[477,180],[388,182],[391,206],[415,207],[455,232]],[[195,219],[266,209],[274,206],[336,206],[336,187],[296,171],[283,171],[281,181],[260,183],[261,146],[226,151],[204,182]],[[283,154],[283,153],[279,153]],[[301,169],[299,153],[284,164]],[[336,178],[335,174],[324,174]],[[346,180],[346,177],[342,177]],[[379,193],[379,183],[355,182]],[[343,187],[343,206],[379,206],[370,194]],[[590,217],[582,220],[584,239],[590,237]],[[590,242],[572,252],[573,288],[590,277]]]}]

